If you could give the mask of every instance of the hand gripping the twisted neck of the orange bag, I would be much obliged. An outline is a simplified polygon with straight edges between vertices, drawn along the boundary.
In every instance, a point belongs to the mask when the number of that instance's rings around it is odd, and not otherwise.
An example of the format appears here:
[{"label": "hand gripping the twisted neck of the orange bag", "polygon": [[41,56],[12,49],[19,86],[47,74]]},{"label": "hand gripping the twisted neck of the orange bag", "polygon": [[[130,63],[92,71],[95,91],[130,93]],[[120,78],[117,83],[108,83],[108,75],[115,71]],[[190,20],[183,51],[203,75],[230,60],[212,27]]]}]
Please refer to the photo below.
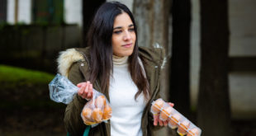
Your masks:
[{"label": "hand gripping the twisted neck of the orange bag", "polygon": [[80,82],[78,83],[77,87],[79,87],[78,90],[78,96],[81,96],[83,99],[92,99],[92,83],[91,82]]}]

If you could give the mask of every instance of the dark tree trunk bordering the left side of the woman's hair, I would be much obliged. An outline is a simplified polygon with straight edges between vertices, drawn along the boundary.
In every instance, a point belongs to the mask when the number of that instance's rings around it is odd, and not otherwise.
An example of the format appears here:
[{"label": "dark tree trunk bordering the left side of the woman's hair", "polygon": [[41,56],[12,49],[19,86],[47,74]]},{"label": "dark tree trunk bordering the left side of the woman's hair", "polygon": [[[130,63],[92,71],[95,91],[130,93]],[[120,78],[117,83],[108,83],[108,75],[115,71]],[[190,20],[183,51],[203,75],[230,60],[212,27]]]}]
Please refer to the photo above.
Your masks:
[{"label": "dark tree trunk bordering the left side of the woman's hair", "polygon": [[83,46],[86,45],[86,35],[88,28],[91,25],[92,17],[94,16],[97,8],[102,5],[106,0],[83,0]]}]

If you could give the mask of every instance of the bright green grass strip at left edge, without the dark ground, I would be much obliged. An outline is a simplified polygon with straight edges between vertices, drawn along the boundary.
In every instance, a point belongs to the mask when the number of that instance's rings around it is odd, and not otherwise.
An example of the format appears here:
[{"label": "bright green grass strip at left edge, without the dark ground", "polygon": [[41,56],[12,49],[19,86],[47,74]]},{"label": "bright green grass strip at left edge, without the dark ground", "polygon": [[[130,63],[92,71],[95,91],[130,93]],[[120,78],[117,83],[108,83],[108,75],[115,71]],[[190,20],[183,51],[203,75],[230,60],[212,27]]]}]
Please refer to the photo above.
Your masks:
[{"label": "bright green grass strip at left edge, without the dark ground", "polygon": [[55,75],[0,64],[0,82],[48,84]]}]

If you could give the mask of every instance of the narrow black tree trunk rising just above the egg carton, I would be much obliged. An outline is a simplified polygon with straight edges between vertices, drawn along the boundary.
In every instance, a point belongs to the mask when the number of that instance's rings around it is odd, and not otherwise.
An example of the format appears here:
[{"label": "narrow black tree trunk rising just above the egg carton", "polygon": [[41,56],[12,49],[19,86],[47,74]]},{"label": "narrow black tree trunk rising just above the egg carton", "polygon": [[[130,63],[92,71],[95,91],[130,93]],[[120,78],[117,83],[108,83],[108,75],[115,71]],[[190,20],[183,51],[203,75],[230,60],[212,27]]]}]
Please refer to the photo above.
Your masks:
[{"label": "narrow black tree trunk rising just above the egg carton", "polygon": [[173,44],[169,98],[177,104],[175,109],[191,119],[189,89],[191,1],[173,0],[172,6]]}]

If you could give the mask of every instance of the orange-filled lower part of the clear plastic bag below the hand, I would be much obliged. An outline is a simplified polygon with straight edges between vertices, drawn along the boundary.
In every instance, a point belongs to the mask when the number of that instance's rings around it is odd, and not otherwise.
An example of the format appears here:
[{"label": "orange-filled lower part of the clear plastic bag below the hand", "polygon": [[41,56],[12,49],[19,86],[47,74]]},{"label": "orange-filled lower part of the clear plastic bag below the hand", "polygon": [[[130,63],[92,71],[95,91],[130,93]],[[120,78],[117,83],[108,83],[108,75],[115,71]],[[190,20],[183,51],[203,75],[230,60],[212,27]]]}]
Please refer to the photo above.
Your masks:
[{"label": "orange-filled lower part of the clear plastic bag below the hand", "polygon": [[93,90],[92,99],[83,107],[81,117],[84,124],[96,126],[111,118],[112,109],[102,93]]}]

